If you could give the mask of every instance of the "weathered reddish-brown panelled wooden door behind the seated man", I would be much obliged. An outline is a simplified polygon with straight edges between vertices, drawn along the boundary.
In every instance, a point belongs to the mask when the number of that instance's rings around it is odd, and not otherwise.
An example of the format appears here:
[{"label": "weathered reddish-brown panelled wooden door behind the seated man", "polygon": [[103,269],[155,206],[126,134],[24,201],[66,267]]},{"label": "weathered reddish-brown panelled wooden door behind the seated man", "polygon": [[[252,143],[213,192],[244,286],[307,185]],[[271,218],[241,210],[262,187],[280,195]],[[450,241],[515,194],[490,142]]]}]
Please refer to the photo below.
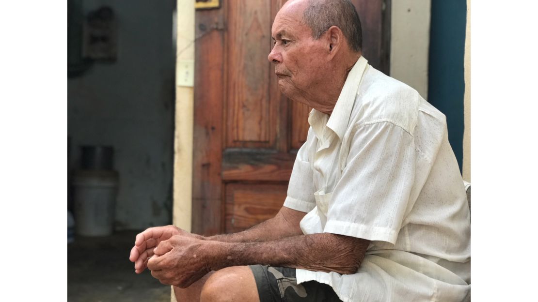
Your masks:
[{"label": "weathered reddish-brown panelled wooden door behind the seated man", "polygon": [[[273,217],[286,198],[310,108],[280,94],[267,61],[285,1],[221,0],[219,9],[196,11],[194,233],[242,231]],[[353,3],[364,56],[388,70],[387,4]]]}]

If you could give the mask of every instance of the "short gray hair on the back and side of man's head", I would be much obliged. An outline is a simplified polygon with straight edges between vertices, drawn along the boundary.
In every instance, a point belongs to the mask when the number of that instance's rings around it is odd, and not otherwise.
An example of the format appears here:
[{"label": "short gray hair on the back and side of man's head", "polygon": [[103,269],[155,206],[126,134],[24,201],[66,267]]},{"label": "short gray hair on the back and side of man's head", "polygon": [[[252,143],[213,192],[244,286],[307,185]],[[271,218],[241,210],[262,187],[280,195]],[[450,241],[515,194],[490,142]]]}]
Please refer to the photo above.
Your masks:
[{"label": "short gray hair on the back and side of man's head", "polygon": [[310,0],[303,21],[312,29],[316,40],[335,25],[342,30],[353,51],[359,52],[363,47],[359,15],[350,0]]}]

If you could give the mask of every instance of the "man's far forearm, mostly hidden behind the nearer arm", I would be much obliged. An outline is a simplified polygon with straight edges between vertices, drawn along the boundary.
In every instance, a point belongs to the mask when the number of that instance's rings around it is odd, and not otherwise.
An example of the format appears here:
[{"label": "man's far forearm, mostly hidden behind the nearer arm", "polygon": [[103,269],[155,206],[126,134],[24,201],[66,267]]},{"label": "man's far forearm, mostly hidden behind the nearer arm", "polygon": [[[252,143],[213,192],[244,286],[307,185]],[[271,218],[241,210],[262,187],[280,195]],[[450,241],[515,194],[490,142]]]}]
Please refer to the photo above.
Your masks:
[{"label": "man's far forearm, mostly hidden behind the nearer arm", "polygon": [[301,235],[302,231],[299,227],[299,221],[305,214],[289,208],[282,208],[275,217],[261,222],[246,231],[210,236],[206,240],[221,242],[261,242]]}]

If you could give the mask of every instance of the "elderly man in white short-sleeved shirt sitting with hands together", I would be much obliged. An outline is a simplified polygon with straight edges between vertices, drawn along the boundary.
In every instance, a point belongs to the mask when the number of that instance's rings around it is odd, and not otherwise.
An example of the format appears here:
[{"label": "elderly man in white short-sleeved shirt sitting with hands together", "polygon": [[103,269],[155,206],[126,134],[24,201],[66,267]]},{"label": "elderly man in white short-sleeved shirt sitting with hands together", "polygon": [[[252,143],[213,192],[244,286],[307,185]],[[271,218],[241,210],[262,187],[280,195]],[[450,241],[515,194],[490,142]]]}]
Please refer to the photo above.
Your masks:
[{"label": "elderly man in white short-sleeved shirt sitting with hands together", "polygon": [[137,235],[130,260],[178,301],[462,301],[470,213],[445,117],[362,56],[349,0],[288,1],[275,17],[280,90],[312,106],[280,212],[203,237]]}]

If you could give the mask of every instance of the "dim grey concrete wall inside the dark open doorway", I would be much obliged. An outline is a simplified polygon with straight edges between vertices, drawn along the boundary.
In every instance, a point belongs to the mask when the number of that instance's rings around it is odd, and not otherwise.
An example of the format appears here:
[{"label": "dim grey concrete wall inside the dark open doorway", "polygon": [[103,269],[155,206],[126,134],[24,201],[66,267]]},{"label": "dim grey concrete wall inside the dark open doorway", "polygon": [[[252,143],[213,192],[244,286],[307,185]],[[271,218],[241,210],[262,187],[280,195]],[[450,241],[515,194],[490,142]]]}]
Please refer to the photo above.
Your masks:
[{"label": "dim grey concrete wall inside the dark open doorway", "polygon": [[172,221],[175,0],[84,0],[109,5],[118,20],[114,63],[95,63],[68,80],[72,167],[80,145],[112,145],[120,188],[116,229]]}]

